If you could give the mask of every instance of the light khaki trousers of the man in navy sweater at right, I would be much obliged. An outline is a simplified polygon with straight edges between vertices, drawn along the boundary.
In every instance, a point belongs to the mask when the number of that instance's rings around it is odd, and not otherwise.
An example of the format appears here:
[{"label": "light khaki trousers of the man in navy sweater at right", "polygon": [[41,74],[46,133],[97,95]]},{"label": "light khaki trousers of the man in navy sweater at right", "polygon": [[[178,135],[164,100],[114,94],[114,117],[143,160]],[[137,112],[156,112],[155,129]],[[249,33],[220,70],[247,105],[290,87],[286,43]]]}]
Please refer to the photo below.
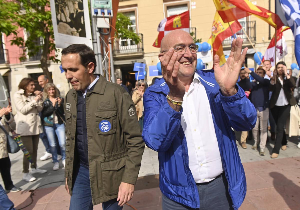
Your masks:
[{"label": "light khaki trousers of the man in navy sweater at right", "polygon": [[268,119],[269,119],[269,108],[259,112],[257,111],[257,119],[255,127],[252,129],[254,145],[257,145],[257,140],[259,138],[258,130],[260,130],[260,143],[259,148],[260,150],[265,149],[265,144],[267,143],[268,137]]}]

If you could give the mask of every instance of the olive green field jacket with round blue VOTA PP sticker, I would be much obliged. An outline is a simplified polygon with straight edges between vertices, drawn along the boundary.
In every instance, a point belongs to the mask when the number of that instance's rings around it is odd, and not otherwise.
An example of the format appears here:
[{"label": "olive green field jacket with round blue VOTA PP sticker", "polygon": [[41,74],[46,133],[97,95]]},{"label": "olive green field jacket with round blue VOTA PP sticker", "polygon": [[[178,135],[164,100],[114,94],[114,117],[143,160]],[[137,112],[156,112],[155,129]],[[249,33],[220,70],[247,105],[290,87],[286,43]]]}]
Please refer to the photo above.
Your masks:
[{"label": "olive green field jacket with round blue VOTA PP sticker", "polygon": [[[86,93],[85,103],[91,195],[93,205],[97,205],[116,198],[121,182],[136,184],[145,143],[134,103],[122,86],[100,75],[94,89]],[[64,100],[65,177],[70,193],[79,164],[75,149],[76,105],[77,92],[71,89]]]}]

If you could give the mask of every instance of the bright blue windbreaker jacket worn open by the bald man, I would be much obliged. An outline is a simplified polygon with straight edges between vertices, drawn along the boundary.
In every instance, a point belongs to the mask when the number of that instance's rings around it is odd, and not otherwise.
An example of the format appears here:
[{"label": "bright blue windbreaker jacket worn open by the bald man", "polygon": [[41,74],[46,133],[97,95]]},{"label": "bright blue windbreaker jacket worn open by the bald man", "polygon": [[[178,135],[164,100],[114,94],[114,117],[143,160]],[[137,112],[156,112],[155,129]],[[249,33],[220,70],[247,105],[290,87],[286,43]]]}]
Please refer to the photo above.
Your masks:
[{"label": "bright blue windbreaker jacket worn open by the bald man", "polygon": [[[196,71],[205,87],[210,103],[223,171],[233,207],[239,208],[246,196],[246,177],[236,146],[236,131],[249,131],[256,123],[256,110],[244,91],[225,97],[214,78],[213,70]],[[191,208],[199,208],[199,193],[189,169],[187,141],[181,126],[181,114],[167,102],[169,87],[163,78],[144,93],[143,139],[158,151],[159,187],[173,201]]]}]

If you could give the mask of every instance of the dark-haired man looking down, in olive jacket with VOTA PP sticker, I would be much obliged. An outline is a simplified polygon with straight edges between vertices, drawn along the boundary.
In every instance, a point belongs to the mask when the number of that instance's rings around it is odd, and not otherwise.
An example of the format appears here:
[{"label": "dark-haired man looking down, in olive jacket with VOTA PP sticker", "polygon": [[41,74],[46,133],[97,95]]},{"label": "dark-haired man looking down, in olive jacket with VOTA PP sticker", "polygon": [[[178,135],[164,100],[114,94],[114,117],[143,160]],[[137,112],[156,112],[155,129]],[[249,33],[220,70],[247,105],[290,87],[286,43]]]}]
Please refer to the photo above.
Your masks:
[{"label": "dark-haired man looking down, in olive jacket with VOTA PP sticker", "polygon": [[64,100],[66,190],[70,209],[122,209],[134,193],[145,147],[134,103],[124,88],[93,74],[95,54],[84,44],[61,52],[73,88]]}]

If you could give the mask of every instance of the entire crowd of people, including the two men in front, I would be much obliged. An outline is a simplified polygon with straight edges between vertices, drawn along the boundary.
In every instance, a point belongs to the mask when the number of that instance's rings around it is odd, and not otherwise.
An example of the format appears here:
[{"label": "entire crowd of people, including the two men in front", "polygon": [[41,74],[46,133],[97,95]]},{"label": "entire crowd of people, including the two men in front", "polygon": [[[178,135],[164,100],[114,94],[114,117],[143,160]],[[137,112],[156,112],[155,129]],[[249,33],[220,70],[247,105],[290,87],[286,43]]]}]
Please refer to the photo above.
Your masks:
[{"label": "entire crowd of people, including the two men in front", "polygon": [[35,173],[47,172],[37,167],[41,138],[40,160],[52,158],[54,171],[62,161],[72,210],[99,203],[104,210],[122,209],[133,196],[145,143],[159,153],[164,210],[238,208],[246,178],[232,129],[242,131],[242,148],[252,130],[252,149],[259,147],[260,155],[270,131],[271,158],[287,149],[287,135],[300,136],[298,126],[290,126],[299,110],[300,79],[283,61],[274,71],[269,60],[251,71],[243,64],[242,43],[232,42],[222,67],[215,56],[214,71],[196,70],[198,46],[187,32],[174,30],[161,42],[163,78],[149,88],[145,80],[133,87],[94,74],[95,54],[84,44],[64,48],[61,66],[73,86],[64,98],[46,75],[38,77],[40,91],[33,79],[23,78],[13,95],[16,115],[10,106],[0,109],[5,190],[21,190],[11,180],[6,145],[6,133],[15,131],[31,156],[23,157],[22,179],[33,182]]}]

